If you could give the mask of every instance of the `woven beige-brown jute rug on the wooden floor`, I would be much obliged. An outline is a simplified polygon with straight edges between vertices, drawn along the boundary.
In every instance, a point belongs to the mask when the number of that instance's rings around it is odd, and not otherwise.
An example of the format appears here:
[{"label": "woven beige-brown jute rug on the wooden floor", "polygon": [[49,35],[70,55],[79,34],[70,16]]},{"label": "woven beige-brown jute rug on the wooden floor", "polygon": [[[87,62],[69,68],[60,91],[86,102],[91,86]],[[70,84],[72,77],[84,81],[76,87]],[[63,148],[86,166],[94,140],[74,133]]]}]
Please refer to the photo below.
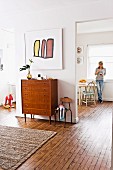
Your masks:
[{"label": "woven beige-brown jute rug on the wooden floor", "polygon": [[15,170],[56,132],[0,126],[0,167]]}]

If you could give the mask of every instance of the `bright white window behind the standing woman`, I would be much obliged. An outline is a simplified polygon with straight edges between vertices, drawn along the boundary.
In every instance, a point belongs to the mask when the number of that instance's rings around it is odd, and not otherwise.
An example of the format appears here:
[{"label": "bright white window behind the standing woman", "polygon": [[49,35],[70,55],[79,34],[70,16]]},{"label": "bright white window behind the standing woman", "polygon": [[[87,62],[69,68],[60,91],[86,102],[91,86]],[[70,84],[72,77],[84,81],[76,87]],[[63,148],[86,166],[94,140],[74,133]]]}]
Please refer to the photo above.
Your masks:
[{"label": "bright white window behind the standing woman", "polygon": [[95,69],[99,61],[103,61],[106,68],[105,80],[113,80],[113,44],[88,45],[88,79],[95,79]]}]

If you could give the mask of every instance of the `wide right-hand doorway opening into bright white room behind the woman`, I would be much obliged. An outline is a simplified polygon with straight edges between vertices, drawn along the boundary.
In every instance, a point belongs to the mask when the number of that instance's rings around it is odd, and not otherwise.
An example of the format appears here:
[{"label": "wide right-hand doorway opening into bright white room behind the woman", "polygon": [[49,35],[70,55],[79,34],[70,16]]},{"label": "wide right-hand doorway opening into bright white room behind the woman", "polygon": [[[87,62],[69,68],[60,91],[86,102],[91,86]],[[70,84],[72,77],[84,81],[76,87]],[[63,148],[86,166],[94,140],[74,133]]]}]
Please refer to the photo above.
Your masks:
[{"label": "wide right-hand doorway opening into bright white room behind the woman", "polygon": [[95,81],[95,69],[104,62],[106,76],[103,91],[104,101],[113,101],[113,19],[76,23],[76,96],[79,117],[79,80]]}]

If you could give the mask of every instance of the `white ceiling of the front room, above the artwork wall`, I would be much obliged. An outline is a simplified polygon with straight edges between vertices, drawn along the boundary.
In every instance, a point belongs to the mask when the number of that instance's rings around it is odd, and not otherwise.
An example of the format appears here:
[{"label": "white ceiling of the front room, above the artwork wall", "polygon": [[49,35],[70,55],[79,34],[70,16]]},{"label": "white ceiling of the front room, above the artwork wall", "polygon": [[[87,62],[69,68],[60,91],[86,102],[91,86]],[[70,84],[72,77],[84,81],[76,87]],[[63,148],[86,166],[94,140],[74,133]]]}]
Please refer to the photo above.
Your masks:
[{"label": "white ceiling of the front room, above the artwork wall", "polygon": [[0,0],[0,14],[42,11],[80,3],[106,0]]}]

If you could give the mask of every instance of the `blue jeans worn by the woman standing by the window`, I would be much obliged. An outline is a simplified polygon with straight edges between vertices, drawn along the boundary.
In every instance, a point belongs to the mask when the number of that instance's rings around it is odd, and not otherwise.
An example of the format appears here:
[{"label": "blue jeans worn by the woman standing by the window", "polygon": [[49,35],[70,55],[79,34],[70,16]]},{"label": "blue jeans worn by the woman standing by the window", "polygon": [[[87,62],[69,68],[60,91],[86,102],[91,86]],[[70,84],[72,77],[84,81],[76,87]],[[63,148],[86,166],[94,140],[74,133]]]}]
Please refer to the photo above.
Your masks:
[{"label": "blue jeans worn by the woman standing by the window", "polygon": [[98,93],[98,100],[102,100],[102,91],[104,88],[104,81],[103,80],[96,80],[97,84],[97,93]]}]

